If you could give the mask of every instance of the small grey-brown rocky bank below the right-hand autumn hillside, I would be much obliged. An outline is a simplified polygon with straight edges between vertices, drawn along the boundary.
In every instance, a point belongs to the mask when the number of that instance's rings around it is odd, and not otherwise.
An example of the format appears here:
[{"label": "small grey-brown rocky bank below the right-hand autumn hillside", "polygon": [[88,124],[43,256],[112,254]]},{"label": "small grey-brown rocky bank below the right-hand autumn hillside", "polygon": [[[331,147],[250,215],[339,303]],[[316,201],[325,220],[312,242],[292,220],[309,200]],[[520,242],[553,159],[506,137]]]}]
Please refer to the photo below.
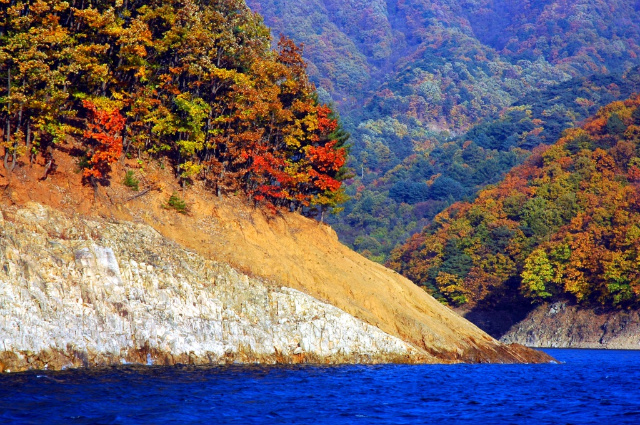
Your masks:
[{"label": "small grey-brown rocky bank below the right-hand autumn hillside", "polygon": [[501,339],[529,347],[640,349],[640,312],[542,304]]}]

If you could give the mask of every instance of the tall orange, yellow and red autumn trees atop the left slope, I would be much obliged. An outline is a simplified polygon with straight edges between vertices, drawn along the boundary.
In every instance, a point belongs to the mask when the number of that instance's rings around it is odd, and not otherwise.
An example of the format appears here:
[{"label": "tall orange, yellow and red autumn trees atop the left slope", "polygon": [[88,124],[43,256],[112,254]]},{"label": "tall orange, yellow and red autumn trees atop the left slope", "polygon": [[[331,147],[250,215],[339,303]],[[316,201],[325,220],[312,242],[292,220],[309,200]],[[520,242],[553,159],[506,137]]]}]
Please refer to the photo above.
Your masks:
[{"label": "tall orange, yellow and red autumn trees atop the left slope", "polygon": [[71,141],[94,185],[125,154],[271,207],[344,200],[347,135],[243,1],[0,4],[5,173]]}]

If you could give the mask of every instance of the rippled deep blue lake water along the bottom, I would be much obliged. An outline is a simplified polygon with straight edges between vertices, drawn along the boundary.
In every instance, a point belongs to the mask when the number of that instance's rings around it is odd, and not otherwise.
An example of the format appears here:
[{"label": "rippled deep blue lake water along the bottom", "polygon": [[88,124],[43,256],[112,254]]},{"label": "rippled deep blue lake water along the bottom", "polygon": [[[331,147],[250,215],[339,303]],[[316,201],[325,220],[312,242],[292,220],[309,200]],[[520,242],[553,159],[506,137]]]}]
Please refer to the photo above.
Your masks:
[{"label": "rippled deep blue lake water along the bottom", "polygon": [[640,352],[561,364],[143,367],[0,376],[1,424],[640,424]]}]

